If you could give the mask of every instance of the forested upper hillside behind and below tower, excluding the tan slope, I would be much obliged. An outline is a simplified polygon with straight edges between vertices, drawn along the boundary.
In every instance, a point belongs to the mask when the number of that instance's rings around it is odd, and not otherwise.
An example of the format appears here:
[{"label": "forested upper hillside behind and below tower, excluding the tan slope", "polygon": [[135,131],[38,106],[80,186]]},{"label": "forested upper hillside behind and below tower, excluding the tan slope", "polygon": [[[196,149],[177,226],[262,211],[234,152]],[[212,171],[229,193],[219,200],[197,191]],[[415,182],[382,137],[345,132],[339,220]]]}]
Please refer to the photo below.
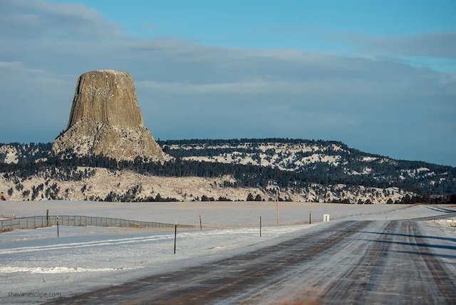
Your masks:
[{"label": "forested upper hillside behind and below tower, excluding the tan slope", "polygon": [[[69,150],[52,155],[51,143],[0,144],[0,175],[18,181],[31,177],[81,181],[102,167],[158,177],[232,177],[219,186],[259,190],[276,186],[308,194],[316,190],[324,193],[317,194],[319,197],[339,202],[347,201],[346,192],[356,192],[360,187],[363,192],[383,190],[386,197],[393,190],[404,198],[410,192],[414,195],[409,197],[424,201],[456,194],[455,167],[393,160],[335,141],[270,138],[158,143],[173,160],[160,163],[140,158],[118,161],[104,156],[76,157]],[[410,198],[405,200],[410,202]]]}]

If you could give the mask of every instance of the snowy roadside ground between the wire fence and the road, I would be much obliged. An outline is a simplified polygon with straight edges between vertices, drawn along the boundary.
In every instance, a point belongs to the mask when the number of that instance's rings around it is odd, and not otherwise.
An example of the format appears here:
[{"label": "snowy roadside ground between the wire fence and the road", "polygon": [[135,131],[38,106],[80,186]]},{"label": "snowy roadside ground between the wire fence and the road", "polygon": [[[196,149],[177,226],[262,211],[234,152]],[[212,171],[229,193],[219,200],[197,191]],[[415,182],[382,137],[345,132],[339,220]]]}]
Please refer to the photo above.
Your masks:
[{"label": "snowy roadside ground between the wire fence and the road", "polygon": [[[61,237],[56,237],[56,227],[7,232],[1,234],[0,243],[0,303],[45,301],[12,298],[11,292],[68,296],[204,264],[291,238],[296,232],[316,226],[264,227],[261,237],[259,228],[177,232],[176,254],[174,232],[118,234],[119,228],[98,227],[60,227]],[[110,229],[116,232],[108,234]]]}]

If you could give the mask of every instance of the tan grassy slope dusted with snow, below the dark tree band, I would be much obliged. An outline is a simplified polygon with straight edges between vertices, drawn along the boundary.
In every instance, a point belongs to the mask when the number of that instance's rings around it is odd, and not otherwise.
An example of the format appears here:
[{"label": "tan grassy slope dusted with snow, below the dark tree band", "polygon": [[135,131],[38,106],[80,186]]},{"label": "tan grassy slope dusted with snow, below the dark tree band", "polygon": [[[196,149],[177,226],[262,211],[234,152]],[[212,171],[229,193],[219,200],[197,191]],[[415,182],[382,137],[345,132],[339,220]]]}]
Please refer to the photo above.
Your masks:
[{"label": "tan grassy slope dusted with snow, below the dark tree band", "polygon": [[[277,187],[224,187],[231,176],[224,177],[157,177],[137,172],[111,171],[105,168],[79,167],[88,172],[81,180],[61,180],[49,177],[26,179],[6,178],[0,175],[0,193],[8,200],[102,200],[102,201],[245,201],[249,194],[261,200],[276,200]],[[341,198],[352,203],[386,203],[400,200],[413,192],[373,187],[349,187],[347,185],[323,186],[313,184],[303,190],[281,188],[280,200],[294,202],[332,202]]]}]

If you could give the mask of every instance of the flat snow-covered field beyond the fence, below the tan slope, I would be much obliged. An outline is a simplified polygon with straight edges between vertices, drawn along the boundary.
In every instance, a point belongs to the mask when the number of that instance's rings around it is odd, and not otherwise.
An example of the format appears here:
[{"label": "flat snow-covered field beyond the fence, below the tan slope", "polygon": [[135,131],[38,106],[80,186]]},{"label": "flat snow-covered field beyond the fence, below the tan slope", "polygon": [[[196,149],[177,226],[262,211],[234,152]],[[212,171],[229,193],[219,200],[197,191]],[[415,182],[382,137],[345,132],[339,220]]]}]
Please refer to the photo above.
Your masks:
[{"label": "flat snow-covered field beyond the fence, below the tan slope", "polygon": [[[358,214],[383,213],[408,205],[344,205],[333,203],[279,202],[281,224],[314,220],[323,214],[340,218]],[[111,217],[146,222],[193,224],[199,226],[255,226],[261,216],[263,224],[276,224],[276,202],[89,202],[89,201],[22,201],[1,202],[0,217],[46,215],[83,215]]]}]

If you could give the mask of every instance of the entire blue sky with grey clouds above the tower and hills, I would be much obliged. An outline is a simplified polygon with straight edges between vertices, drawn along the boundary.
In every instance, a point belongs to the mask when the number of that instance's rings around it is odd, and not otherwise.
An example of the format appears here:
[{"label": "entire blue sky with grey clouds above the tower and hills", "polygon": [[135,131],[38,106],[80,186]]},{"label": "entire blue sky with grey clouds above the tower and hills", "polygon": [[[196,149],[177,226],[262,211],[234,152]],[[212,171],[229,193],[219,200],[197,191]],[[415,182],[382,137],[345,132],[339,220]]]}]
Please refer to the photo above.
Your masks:
[{"label": "entire blue sky with grey clouds above the tower and hills", "polygon": [[78,76],[155,138],[338,140],[456,166],[456,1],[0,0],[0,143],[52,142]]}]

